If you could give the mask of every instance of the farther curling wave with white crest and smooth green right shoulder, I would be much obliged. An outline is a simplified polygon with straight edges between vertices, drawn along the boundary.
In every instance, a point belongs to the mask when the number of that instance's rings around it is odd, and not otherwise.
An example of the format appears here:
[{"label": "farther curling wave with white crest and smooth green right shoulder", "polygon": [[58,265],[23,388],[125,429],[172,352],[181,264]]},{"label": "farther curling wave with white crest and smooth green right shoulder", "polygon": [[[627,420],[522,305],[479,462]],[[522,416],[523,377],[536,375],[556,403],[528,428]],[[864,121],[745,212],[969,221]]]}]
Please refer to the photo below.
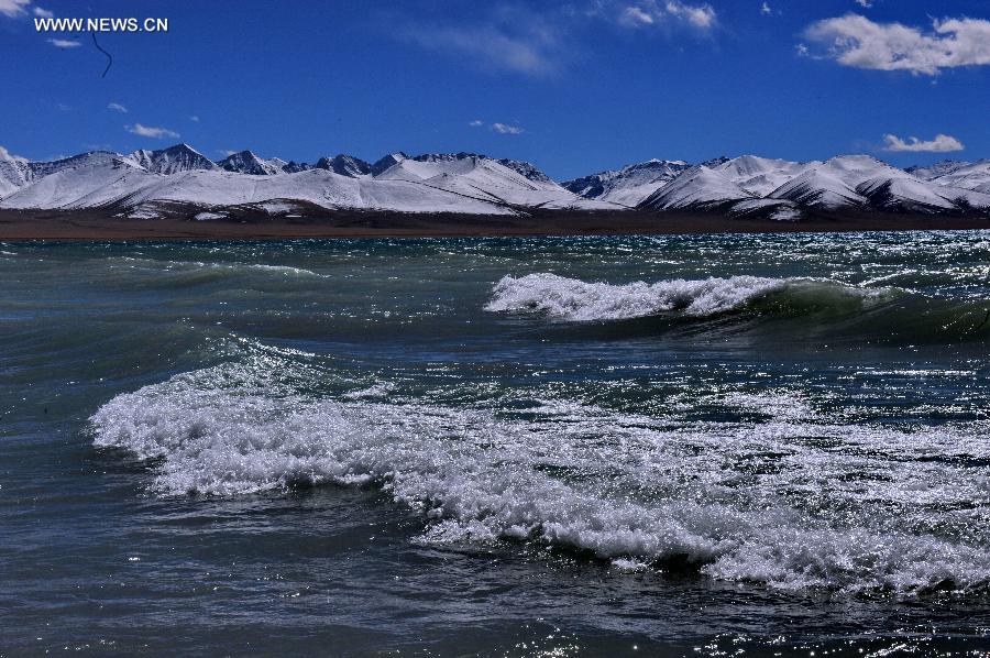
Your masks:
[{"label": "farther curling wave with white crest and smooth green right shoulder", "polygon": [[[831,279],[732,276],[653,284],[588,283],[556,274],[505,276],[485,309],[538,315],[614,329],[654,331],[670,322],[802,322],[804,333],[864,342],[952,342],[990,337],[990,300],[930,297],[893,287],[860,287]],[[723,322],[726,320],[728,323]],[[787,326],[790,335],[795,325]],[[612,331],[612,330],[609,330]],[[614,333],[609,333],[613,335]]]}]

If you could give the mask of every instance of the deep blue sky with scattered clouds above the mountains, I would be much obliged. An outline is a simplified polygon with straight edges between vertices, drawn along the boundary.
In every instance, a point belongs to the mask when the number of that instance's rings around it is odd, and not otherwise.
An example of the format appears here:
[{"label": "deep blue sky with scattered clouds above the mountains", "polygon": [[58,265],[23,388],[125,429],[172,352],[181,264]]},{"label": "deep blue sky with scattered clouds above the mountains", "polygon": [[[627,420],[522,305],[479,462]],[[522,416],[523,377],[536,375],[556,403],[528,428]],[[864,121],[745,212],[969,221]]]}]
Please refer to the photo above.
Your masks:
[{"label": "deep blue sky with scattered clouds above the mountains", "polygon": [[[48,14],[169,29],[100,34],[101,78],[88,34],[36,32]],[[470,151],[563,179],[650,157],[990,157],[986,0],[0,0],[0,145],[34,160]]]}]

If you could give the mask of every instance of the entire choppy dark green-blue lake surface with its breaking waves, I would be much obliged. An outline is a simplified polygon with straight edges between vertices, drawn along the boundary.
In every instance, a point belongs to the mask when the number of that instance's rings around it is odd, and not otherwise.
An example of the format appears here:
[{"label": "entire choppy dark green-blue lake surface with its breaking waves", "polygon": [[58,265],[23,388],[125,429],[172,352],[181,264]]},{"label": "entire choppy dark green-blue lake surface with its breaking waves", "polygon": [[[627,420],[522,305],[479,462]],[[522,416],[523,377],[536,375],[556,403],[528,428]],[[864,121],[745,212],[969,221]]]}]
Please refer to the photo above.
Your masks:
[{"label": "entire choppy dark green-blue lake surface with its breaking waves", "polygon": [[0,646],[990,647],[990,233],[0,245]]}]

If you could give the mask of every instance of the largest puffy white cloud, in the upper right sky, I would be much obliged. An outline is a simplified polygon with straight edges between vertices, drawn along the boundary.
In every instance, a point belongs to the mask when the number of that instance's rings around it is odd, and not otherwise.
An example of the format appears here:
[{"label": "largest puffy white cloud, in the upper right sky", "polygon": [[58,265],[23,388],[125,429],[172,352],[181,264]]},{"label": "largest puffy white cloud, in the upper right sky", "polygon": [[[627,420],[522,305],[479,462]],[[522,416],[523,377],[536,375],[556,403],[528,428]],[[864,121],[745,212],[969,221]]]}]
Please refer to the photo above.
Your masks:
[{"label": "largest puffy white cloud, in the upper right sky", "polygon": [[990,64],[990,21],[945,19],[933,32],[901,23],[875,23],[847,14],[813,23],[805,36],[825,45],[827,56],[844,66],[938,75],[943,68]]}]

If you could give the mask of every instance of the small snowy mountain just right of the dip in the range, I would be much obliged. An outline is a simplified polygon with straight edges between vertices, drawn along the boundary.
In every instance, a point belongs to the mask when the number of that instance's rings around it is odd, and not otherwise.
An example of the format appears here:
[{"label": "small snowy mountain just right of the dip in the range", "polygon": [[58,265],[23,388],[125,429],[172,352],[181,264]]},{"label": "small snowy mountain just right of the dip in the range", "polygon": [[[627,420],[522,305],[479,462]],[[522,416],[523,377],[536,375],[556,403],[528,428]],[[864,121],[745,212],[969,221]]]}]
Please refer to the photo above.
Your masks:
[{"label": "small snowy mountain just right of the dip in the range", "polygon": [[635,207],[690,167],[681,160],[650,160],[566,180],[561,185],[586,199]]}]

